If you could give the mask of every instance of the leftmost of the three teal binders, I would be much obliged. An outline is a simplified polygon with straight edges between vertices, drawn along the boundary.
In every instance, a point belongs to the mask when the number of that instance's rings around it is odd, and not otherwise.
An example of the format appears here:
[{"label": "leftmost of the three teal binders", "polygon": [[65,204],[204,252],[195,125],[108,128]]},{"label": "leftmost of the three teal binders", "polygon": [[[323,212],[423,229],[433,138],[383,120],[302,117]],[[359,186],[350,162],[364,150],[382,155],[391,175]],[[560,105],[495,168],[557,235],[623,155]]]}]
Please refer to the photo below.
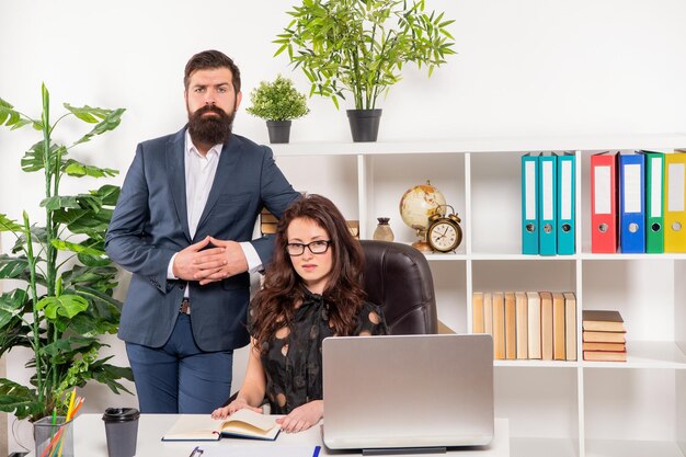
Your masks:
[{"label": "leftmost of the three teal binders", "polygon": [[522,253],[538,254],[538,157],[522,156]]}]

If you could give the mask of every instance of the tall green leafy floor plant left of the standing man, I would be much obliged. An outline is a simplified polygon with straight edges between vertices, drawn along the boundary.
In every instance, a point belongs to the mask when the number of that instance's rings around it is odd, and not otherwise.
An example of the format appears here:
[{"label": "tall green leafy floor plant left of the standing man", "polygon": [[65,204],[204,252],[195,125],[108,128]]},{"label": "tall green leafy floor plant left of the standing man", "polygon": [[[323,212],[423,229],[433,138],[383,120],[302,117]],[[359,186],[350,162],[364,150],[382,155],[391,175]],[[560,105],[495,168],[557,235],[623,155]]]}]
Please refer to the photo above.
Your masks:
[{"label": "tall green leafy floor plant left of the standing man", "polygon": [[[39,207],[45,220],[32,224],[26,210],[21,220],[0,214],[0,231],[14,236],[11,254],[0,255],[0,279],[20,284],[0,295],[0,355],[14,347],[33,351],[26,367],[30,385],[0,378],[0,411],[19,419],[37,420],[67,412],[69,390],[89,380],[103,382],[115,393],[128,390],[119,379],[133,379],[130,368],[99,358],[105,344],[100,335],[117,330],[121,301],[113,298],[117,270],[104,252],[104,236],[119,187],[103,185],[78,195],[61,195],[66,176],[110,178],[116,170],[81,163],[70,150],[119,125],[125,110],[76,107],[50,124],[50,101],[42,88],[43,108],[32,118],[0,99],[0,126],[11,130],[32,126],[42,138],[21,161],[25,172],[43,172],[45,197]],[[69,117],[95,124],[69,146],[57,144],[53,134]],[[7,170],[5,170],[7,172]],[[37,203],[38,205],[38,203]],[[130,392],[129,392],[130,393]]]}]

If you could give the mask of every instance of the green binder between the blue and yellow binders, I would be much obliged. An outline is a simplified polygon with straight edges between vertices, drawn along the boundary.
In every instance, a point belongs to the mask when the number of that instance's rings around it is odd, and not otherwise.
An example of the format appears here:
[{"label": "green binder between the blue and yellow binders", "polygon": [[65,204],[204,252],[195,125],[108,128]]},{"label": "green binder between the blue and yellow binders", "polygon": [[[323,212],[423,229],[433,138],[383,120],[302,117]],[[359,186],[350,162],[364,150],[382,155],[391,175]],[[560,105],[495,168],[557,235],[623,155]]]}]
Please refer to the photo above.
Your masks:
[{"label": "green binder between the blue and yellow binders", "polygon": [[639,151],[645,156],[645,252],[664,252],[664,153]]}]

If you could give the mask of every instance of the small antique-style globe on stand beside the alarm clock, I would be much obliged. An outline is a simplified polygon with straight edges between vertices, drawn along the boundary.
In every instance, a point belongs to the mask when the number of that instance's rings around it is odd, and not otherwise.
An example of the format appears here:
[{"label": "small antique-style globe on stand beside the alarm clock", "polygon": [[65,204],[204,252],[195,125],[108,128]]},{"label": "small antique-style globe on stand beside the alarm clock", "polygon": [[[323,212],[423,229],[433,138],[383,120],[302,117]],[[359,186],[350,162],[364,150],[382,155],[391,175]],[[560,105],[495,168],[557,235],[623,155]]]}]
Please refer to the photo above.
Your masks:
[{"label": "small antique-style globe on stand beside the alarm clock", "polygon": [[415,185],[405,191],[400,198],[400,216],[402,221],[416,230],[420,240],[412,245],[422,251],[431,251],[426,243],[426,229],[428,228],[428,218],[439,213],[445,214],[445,197],[436,187],[426,184]]}]

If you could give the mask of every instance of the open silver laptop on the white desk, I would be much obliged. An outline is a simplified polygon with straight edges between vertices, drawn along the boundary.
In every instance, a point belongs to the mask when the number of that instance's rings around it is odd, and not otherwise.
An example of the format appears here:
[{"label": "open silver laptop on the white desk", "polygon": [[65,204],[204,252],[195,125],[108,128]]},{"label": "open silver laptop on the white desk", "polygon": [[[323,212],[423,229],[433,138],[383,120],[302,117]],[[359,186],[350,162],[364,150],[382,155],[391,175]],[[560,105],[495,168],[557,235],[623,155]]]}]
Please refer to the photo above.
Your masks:
[{"label": "open silver laptop on the white desk", "polygon": [[330,449],[435,452],[493,438],[491,335],[336,336],[322,356]]}]

